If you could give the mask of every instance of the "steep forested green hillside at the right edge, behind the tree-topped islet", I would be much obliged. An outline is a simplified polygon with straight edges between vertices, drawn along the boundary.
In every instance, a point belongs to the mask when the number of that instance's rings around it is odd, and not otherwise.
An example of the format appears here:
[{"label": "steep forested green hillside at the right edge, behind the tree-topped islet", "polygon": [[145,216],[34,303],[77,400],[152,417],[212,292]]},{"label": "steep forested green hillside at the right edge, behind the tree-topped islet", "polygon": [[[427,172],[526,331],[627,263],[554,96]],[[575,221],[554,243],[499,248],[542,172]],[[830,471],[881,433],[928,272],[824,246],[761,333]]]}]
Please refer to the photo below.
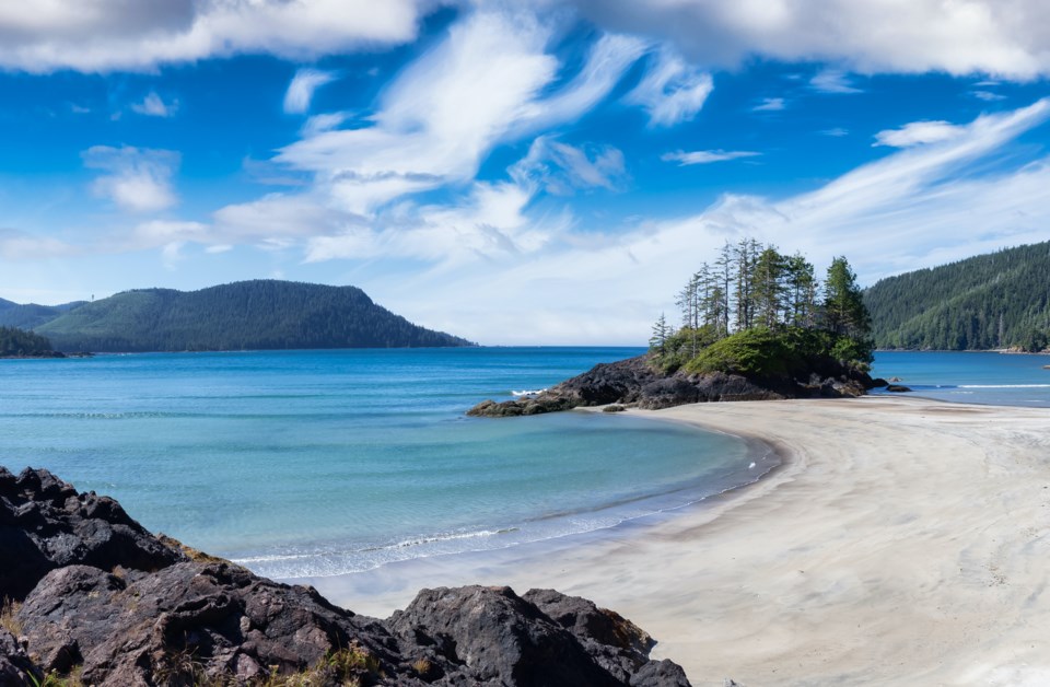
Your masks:
[{"label": "steep forested green hillside at the right edge, behind the tree-topped islet", "polygon": [[877,348],[1042,350],[1050,333],[1050,242],[898,277],[864,292]]}]

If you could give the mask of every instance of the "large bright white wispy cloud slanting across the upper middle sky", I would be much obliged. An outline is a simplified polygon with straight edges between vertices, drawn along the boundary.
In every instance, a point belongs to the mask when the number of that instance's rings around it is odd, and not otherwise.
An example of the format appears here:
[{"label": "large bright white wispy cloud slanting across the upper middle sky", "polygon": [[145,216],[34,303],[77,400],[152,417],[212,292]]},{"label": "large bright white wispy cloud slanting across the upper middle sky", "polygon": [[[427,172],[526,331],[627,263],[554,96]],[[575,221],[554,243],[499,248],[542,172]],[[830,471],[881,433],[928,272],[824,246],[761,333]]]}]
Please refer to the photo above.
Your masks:
[{"label": "large bright white wispy cloud slanting across the upper middle sky", "polygon": [[603,36],[579,72],[548,91],[568,77],[546,51],[553,37],[552,26],[525,10],[468,14],[386,89],[372,126],[311,129],[275,161],[313,174],[330,207],[359,216],[467,184],[499,142],[592,108],[645,49],[633,38]]}]

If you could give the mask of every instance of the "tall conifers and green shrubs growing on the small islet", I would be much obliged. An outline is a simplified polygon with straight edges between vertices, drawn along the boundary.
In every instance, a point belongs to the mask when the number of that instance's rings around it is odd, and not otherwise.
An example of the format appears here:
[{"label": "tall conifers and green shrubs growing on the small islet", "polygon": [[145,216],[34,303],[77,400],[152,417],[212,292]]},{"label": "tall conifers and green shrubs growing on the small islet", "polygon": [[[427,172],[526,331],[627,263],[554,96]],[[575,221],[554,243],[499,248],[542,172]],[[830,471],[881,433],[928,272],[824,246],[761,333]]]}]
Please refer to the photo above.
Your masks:
[{"label": "tall conifers and green shrubs growing on the small islet", "polygon": [[662,314],[650,353],[665,372],[784,377],[835,360],[872,361],[871,319],[844,257],[824,280],[802,255],[752,238],[726,243],[678,293],[680,324]]}]

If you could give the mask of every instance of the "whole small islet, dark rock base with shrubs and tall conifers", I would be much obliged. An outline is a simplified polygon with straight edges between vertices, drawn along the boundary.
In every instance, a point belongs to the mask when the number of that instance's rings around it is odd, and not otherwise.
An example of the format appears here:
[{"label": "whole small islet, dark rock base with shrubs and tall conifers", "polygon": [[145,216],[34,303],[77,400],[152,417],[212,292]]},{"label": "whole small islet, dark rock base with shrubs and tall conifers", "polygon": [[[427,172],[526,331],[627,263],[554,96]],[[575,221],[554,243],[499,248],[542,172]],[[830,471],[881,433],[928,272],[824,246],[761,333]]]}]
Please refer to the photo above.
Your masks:
[{"label": "whole small islet, dark rock base with shrubs and tall conifers", "polygon": [[714,265],[689,279],[677,303],[681,327],[661,315],[644,356],[595,365],[527,398],[481,401],[467,415],[840,398],[886,385],[867,374],[871,317],[845,258],[832,260],[818,283],[801,255],[752,240],[726,244]]}]

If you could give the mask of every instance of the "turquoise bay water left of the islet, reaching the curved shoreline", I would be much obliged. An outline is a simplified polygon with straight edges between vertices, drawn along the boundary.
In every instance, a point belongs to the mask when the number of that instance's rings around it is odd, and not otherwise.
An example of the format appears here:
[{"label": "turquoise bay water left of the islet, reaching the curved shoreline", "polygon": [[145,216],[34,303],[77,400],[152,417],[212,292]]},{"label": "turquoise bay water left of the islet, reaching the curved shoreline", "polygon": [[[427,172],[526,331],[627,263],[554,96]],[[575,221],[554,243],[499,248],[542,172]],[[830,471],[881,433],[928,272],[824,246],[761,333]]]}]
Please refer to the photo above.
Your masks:
[{"label": "turquoise bay water left of the islet, reaching the curved shoreline", "polygon": [[46,467],[154,532],[276,578],[594,531],[774,464],[733,436],[621,415],[464,416],[639,352],[0,361],[0,464]]}]

